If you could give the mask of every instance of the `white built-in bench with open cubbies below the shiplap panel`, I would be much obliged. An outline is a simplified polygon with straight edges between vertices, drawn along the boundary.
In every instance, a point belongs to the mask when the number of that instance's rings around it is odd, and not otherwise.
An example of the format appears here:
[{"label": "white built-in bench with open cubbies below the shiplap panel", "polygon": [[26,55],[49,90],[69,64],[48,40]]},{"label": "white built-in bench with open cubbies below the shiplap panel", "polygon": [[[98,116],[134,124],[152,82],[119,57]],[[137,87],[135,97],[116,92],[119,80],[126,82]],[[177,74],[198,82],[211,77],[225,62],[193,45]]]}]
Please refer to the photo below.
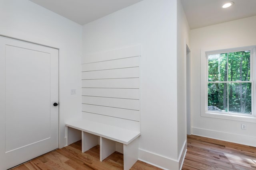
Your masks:
[{"label": "white built-in bench with open cubbies below the shiplap panel", "polygon": [[138,160],[140,132],[85,119],[66,123],[66,126],[82,131],[82,152],[98,145],[100,137],[100,161],[116,151],[116,142],[123,144],[124,170],[129,170]]}]

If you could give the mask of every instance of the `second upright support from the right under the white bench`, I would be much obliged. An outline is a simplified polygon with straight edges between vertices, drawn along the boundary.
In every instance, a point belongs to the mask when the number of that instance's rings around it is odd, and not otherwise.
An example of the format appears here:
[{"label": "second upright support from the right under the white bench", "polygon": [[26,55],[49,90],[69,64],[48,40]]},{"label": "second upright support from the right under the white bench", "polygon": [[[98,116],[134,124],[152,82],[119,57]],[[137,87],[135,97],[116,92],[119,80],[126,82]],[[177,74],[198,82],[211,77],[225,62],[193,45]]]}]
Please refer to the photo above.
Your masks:
[{"label": "second upright support from the right under the white bench", "polygon": [[116,142],[100,137],[100,162],[116,151]]}]

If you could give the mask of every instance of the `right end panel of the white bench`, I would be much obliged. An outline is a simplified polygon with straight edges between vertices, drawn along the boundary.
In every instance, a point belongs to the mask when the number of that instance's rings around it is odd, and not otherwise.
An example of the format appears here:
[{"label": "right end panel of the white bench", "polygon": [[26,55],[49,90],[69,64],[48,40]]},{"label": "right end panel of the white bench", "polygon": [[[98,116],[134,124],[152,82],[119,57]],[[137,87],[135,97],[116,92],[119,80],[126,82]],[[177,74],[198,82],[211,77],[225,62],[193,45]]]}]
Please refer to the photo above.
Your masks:
[{"label": "right end panel of the white bench", "polygon": [[139,139],[136,138],[128,145],[124,145],[124,170],[129,170],[138,160]]}]

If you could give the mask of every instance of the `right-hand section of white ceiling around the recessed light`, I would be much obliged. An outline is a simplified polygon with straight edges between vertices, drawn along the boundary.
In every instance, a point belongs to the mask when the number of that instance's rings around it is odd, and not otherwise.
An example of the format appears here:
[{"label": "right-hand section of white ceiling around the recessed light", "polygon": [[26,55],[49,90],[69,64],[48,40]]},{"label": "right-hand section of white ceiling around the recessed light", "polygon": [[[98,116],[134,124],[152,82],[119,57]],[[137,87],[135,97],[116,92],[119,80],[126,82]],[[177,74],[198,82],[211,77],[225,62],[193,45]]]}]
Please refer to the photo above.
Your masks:
[{"label": "right-hand section of white ceiling around the recessed light", "polygon": [[[256,0],[181,0],[190,29],[256,16]],[[225,2],[234,2],[222,8]]]}]

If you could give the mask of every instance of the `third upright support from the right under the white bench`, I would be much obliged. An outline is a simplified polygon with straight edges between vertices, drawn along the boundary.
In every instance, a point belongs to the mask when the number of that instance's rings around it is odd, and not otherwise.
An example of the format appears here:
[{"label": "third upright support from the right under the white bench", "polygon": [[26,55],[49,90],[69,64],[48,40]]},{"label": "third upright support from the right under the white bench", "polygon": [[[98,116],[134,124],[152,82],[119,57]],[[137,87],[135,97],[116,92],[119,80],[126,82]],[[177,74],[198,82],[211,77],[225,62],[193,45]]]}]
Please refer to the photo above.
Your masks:
[{"label": "third upright support from the right under the white bench", "polygon": [[82,153],[98,145],[98,136],[82,131]]}]

